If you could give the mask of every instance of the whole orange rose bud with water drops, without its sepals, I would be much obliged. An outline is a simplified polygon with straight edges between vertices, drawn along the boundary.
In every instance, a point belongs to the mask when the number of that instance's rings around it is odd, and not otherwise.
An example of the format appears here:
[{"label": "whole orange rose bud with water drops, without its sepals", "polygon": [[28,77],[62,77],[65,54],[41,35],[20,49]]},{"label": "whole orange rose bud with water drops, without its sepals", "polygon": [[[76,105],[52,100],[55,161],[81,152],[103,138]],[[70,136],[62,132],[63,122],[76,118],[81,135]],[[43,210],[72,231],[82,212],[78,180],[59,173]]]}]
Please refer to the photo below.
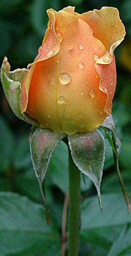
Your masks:
[{"label": "whole orange rose bud with water drops, without its sepals", "polygon": [[112,108],[113,51],[125,36],[119,12],[103,7],[80,15],[69,6],[47,13],[42,46],[22,85],[22,113],[56,133],[93,131]]}]

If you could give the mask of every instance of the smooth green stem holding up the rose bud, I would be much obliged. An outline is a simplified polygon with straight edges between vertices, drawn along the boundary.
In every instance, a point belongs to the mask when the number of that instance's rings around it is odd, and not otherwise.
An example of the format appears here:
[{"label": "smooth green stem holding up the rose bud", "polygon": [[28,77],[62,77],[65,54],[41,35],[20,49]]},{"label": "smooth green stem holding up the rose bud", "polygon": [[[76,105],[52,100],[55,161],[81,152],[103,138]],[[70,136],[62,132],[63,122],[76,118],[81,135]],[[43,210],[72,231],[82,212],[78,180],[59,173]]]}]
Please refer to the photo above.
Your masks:
[{"label": "smooth green stem holding up the rose bud", "polygon": [[78,256],[79,245],[80,171],[69,149],[69,256]]}]

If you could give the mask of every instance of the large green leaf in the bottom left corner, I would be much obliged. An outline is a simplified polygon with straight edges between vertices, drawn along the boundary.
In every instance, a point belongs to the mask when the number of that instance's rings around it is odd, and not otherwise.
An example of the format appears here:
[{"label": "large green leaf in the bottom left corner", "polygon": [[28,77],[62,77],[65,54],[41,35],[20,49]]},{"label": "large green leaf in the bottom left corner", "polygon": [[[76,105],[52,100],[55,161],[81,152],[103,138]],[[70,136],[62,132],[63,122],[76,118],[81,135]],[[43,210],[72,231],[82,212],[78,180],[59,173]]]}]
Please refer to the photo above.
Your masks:
[{"label": "large green leaf in the bottom left corner", "polygon": [[42,205],[27,197],[0,193],[0,255],[59,255],[59,235],[44,221]]}]

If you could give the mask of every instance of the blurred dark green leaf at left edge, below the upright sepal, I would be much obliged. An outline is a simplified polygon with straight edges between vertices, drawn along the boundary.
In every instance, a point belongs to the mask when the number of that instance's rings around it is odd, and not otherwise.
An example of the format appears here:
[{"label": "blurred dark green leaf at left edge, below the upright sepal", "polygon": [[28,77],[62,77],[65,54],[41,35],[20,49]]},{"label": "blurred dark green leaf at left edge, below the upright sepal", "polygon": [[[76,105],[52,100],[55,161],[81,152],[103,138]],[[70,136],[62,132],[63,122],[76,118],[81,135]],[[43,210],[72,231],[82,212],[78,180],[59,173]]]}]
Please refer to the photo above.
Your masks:
[{"label": "blurred dark green leaf at left edge, below the upright sepal", "polygon": [[7,123],[0,116],[0,172],[11,166],[14,151],[14,136]]}]

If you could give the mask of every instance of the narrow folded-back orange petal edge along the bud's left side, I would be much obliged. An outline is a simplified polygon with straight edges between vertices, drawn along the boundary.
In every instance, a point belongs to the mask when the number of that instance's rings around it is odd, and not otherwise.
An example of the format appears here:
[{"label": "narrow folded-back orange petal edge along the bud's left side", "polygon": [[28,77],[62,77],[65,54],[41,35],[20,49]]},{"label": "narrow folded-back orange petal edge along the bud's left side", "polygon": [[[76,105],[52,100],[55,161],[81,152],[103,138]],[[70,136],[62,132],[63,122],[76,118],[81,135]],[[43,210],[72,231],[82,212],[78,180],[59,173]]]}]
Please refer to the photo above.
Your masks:
[{"label": "narrow folded-back orange petal edge along the bud's left side", "polygon": [[26,111],[27,104],[28,104],[28,93],[29,93],[29,86],[31,84],[32,74],[36,67],[36,64],[39,61],[44,61],[52,56],[55,56],[59,49],[60,49],[60,42],[56,35],[56,31],[54,29],[54,25],[56,22],[56,17],[54,15],[54,11],[52,9],[48,9],[47,11],[49,17],[48,28],[46,34],[44,36],[44,40],[42,42],[42,46],[39,47],[39,52],[32,64],[29,64],[31,69],[28,71],[26,79],[22,85],[22,98],[21,98],[21,111],[22,113]]}]

